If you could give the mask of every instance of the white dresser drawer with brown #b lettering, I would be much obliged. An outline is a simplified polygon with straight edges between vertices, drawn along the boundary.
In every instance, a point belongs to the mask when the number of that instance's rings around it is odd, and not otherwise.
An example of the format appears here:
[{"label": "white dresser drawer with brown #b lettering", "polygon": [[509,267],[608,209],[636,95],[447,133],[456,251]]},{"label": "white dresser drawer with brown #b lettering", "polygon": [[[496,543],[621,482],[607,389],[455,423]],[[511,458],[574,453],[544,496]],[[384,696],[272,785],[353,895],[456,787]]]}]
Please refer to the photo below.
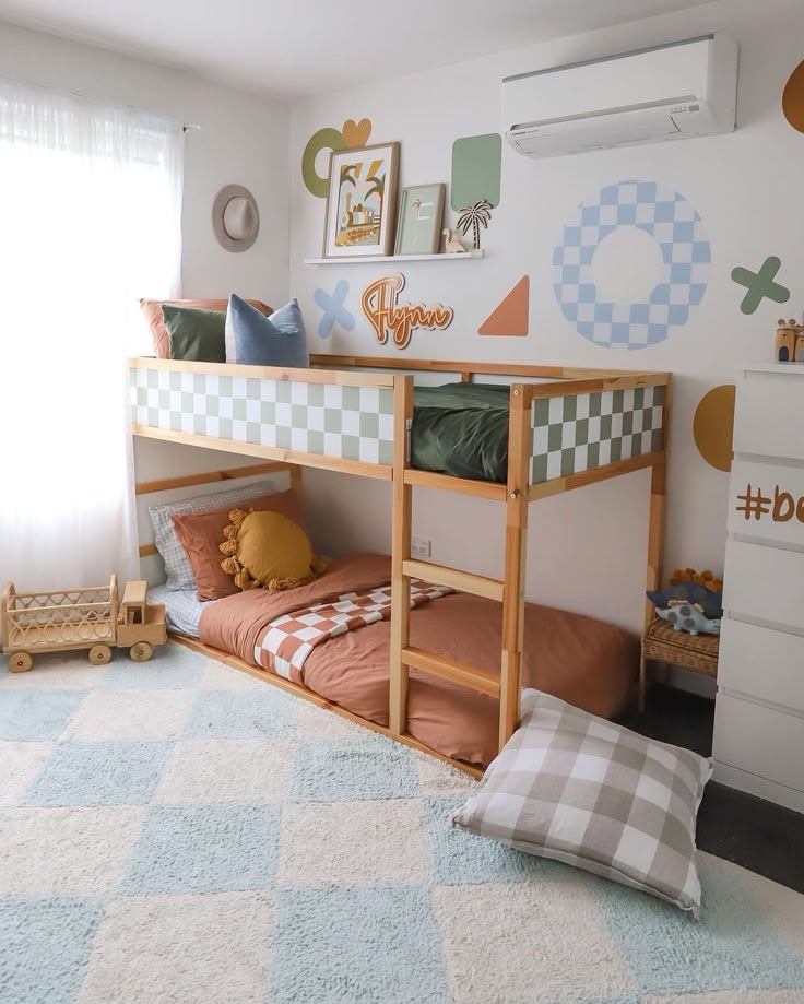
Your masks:
[{"label": "white dresser drawer with brown #b lettering", "polygon": [[804,547],[804,466],[735,460],[729,482],[728,529]]}]

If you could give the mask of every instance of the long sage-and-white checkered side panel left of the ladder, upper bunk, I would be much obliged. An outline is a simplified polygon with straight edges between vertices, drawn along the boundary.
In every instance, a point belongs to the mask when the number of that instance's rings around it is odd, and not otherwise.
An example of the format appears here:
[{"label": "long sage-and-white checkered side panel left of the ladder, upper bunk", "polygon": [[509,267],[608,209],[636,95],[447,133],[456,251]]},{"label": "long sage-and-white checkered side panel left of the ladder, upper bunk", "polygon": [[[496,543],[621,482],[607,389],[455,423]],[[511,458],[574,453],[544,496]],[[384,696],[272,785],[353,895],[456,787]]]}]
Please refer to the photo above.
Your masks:
[{"label": "long sage-and-white checkered side panel left of the ladder, upper bunk", "polygon": [[393,462],[393,391],[132,367],[137,425],[364,463]]}]

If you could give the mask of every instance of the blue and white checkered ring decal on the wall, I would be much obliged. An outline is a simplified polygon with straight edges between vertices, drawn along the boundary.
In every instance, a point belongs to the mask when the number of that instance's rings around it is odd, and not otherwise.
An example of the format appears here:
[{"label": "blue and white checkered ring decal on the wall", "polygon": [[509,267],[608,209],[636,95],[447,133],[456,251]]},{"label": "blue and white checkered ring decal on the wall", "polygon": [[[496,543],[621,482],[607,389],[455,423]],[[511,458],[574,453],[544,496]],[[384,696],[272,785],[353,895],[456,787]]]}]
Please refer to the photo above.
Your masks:
[{"label": "blue and white checkered ring decal on the wall", "polygon": [[[592,261],[601,241],[620,226],[650,234],[662,253],[663,275],[643,303],[600,299]],[[684,196],[653,181],[620,181],[578,206],[553,252],[553,288],[578,333],[602,347],[646,349],[686,324],[704,298],[711,248],[698,213]]]}]

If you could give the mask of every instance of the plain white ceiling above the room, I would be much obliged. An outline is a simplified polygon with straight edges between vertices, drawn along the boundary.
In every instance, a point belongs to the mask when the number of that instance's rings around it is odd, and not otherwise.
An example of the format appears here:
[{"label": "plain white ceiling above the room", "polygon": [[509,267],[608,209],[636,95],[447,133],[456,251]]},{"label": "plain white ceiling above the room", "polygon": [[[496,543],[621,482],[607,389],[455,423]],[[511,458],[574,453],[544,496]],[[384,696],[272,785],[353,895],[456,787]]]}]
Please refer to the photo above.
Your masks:
[{"label": "plain white ceiling above the room", "polygon": [[403,76],[706,0],[0,0],[0,21],[246,91]]}]

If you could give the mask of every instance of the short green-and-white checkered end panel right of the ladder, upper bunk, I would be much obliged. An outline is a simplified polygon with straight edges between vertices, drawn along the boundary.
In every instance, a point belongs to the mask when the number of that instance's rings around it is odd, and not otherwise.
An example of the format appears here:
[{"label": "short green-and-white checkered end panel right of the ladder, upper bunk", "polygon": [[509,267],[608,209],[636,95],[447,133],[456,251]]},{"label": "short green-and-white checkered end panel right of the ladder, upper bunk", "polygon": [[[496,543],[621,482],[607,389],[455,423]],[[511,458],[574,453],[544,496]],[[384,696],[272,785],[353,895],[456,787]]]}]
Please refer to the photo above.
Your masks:
[{"label": "short green-and-white checkered end panel right of the ladder, upper bunk", "polygon": [[531,484],[660,450],[663,409],[663,387],[536,398]]}]

